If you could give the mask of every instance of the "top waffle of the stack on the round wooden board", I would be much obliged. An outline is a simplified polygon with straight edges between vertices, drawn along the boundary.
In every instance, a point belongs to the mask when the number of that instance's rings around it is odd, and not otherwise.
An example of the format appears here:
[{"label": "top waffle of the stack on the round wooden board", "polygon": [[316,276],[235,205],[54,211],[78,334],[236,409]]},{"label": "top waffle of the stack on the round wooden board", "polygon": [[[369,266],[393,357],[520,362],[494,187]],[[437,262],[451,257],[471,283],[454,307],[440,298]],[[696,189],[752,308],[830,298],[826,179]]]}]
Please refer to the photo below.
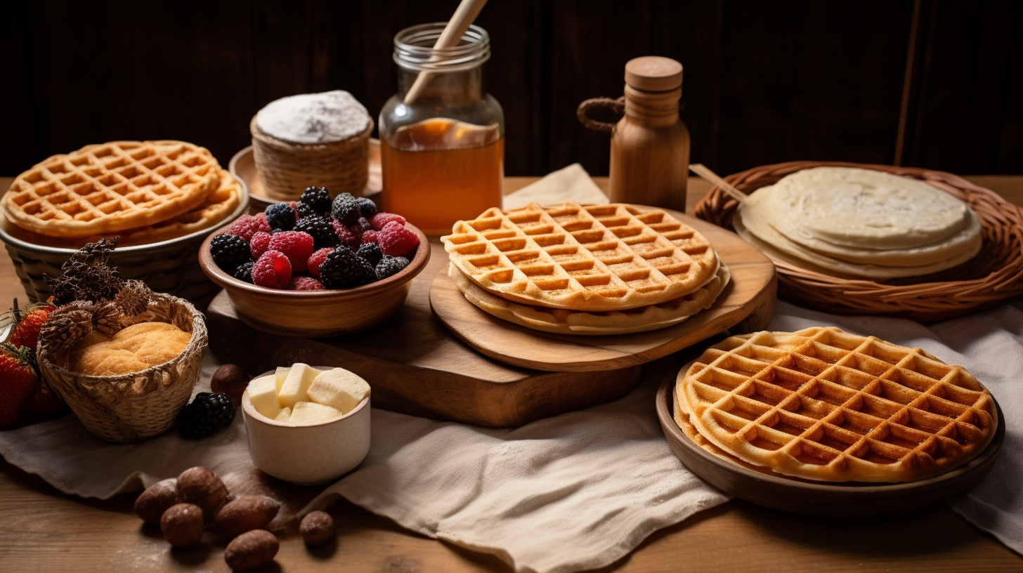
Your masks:
[{"label": "top waffle of the stack on the round wooden board", "polygon": [[451,263],[509,301],[584,311],[656,305],[717,273],[710,243],[664,211],[621,204],[488,209],[441,237]]}]

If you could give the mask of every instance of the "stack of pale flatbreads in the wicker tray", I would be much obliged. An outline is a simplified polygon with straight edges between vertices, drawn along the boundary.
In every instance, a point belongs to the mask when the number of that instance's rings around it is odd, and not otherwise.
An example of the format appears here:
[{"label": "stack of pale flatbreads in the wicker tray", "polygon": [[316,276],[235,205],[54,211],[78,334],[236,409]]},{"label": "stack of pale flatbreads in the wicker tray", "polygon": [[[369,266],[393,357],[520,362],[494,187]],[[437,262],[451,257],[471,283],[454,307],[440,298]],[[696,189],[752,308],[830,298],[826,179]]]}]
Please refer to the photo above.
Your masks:
[{"label": "stack of pale flatbreads in the wicker tray", "polygon": [[736,231],[775,260],[875,279],[945,270],[980,251],[981,226],[963,201],[881,171],[817,167],[758,189]]}]

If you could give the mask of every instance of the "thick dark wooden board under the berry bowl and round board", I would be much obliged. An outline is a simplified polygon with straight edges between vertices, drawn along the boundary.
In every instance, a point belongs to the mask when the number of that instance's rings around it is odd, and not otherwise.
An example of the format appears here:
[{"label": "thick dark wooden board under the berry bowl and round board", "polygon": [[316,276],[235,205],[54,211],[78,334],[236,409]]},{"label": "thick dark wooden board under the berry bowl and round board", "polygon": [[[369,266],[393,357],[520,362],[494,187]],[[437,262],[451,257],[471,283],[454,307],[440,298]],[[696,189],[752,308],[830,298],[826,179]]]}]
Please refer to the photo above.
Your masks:
[{"label": "thick dark wooden board under the berry bowl and round board", "polygon": [[458,342],[430,311],[430,283],[447,264],[440,241],[412,279],[405,306],[356,335],[302,339],[241,322],[225,292],[210,304],[210,349],[223,363],[258,373],[294,362],[342,366],[372,387],[374,407],[478,426],[518,427],[615,400],[639,381],[640,367],[546,372],[487,358]]}]

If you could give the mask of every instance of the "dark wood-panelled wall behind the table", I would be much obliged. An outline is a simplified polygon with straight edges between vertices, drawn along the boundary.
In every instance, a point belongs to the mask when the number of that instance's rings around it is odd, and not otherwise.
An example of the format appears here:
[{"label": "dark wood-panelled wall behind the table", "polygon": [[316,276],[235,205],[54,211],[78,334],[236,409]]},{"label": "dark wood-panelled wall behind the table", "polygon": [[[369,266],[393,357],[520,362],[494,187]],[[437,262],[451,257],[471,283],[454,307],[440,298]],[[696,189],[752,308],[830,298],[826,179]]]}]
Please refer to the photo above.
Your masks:
[{"label": "dark wood-panelled wall behind the table", "polygon": [[[223,165],[269,101],[346,89],[374,117],[396,32],[456,0],[11,2],[0,7],[0,175],[115,139],[183,139]],[[789,160],[1023,173],[1023,2],[490,0],[489,91],[508,175],[608,172],[583,99],[623,67],[684,65],[693,161]]]}]

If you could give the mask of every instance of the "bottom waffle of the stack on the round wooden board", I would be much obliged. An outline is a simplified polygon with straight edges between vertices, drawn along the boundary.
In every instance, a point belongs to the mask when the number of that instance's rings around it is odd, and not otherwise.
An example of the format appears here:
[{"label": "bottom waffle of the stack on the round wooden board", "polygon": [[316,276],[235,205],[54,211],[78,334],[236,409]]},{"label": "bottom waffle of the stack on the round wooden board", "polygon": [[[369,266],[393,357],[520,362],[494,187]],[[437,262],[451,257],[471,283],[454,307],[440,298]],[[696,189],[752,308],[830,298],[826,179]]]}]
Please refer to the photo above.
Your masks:
[{"label": "bottom waffle of the stack on the round wooden board", "polygon": [[728,283],[731,274],[722,262],[717,275],[710,282],[688,295],[657,305],[608,312],[514,303],[484,291],[454,265],[448,266],[448,276],[454,280],[465,300],[498,318],[545,333],[604,336],[644,333],[673,326],[701,310],[710,308]]}]

